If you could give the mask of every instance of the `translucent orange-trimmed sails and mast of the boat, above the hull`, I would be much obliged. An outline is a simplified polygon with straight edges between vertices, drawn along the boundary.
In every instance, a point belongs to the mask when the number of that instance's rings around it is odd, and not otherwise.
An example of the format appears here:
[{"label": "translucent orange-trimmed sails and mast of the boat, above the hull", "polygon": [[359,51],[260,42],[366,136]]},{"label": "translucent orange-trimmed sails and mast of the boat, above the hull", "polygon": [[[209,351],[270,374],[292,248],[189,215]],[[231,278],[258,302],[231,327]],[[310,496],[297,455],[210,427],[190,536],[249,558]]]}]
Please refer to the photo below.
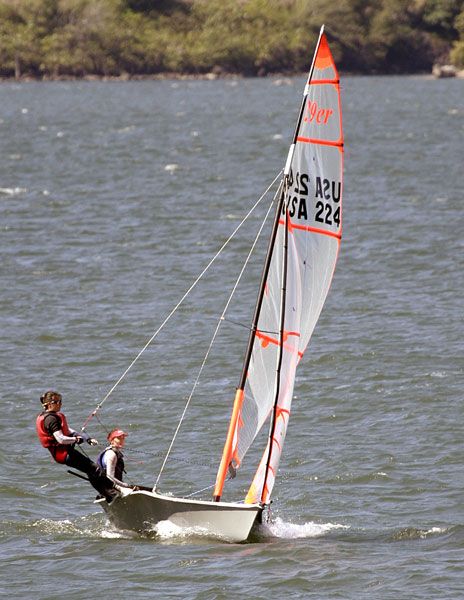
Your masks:
[{"label": "translucent orange-trimmed sails and mast of the boat, above the hull", "polygon": [[270,418],[246,503],[267,504],[290,417],[295,372],[332,281],[342,233],[339,76],[323,28],[281,184],[274,228],[214,499]]}]

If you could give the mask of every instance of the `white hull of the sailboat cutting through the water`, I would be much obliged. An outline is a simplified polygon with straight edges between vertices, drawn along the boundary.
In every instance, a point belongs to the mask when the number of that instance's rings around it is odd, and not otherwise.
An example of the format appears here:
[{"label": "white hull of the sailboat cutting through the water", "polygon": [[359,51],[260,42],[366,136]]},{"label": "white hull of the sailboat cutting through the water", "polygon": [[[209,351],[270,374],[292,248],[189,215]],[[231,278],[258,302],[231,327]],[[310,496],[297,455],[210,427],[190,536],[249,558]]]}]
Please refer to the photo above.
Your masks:
[{"label": "white hull of the sailboat cutting through the water", "polygon": [[231,542],[245,541],[263,510],[258,504],[187,500],[149,491],[131,491],[111,504],[98,503],[120,529],[153,532],[160,521],[170,521]]}]

